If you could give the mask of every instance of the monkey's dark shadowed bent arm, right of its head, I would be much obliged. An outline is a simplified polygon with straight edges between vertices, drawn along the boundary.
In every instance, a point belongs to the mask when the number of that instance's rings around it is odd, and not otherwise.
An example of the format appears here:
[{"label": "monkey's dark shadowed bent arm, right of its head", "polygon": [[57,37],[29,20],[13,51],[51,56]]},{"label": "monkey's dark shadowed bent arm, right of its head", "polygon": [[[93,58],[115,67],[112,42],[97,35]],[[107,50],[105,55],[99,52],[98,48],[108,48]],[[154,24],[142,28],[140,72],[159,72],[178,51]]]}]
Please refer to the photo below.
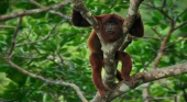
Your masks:
[{"label": "monkey's dark shadowed bent arm, right of its head", "polygon": [[144,27],[143,27],[143,22],[140,13],[138,14],[138,18],[134,21],[129,33],[136,37],[142,37],[144,35]]}]

